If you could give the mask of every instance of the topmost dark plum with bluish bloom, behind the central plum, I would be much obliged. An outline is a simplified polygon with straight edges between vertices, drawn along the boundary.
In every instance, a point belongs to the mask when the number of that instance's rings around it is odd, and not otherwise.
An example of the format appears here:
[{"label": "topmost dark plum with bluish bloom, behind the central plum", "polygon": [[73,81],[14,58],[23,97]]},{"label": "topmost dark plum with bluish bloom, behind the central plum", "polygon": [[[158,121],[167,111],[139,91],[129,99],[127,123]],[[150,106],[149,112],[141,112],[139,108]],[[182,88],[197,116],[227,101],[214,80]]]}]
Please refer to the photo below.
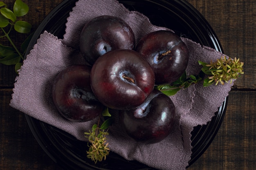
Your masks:
[{"label": "topmost dark plum with bluish bloom, behind the central plum", "polygon": [[100,15],[85,24],[81,31],[80,51],[90,65],[108,51],[134,48],[132,29],[118,17]]}]

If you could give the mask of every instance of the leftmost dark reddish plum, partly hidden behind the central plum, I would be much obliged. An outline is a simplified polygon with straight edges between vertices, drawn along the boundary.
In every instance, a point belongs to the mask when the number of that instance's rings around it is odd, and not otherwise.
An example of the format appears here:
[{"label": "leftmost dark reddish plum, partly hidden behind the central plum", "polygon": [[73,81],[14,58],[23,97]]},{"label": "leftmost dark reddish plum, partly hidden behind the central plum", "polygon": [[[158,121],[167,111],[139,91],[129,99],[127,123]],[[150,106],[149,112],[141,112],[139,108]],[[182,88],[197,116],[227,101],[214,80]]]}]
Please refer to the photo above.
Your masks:
[{"label": "leftmost dark reddish plum, partly hidden behind the central plum", "polygon": [[58,112],[70,121],[92,120],[104,109],[92,92],[90,70],[91,67],[87,65],[72,65],[54,79],[53,102]]}]

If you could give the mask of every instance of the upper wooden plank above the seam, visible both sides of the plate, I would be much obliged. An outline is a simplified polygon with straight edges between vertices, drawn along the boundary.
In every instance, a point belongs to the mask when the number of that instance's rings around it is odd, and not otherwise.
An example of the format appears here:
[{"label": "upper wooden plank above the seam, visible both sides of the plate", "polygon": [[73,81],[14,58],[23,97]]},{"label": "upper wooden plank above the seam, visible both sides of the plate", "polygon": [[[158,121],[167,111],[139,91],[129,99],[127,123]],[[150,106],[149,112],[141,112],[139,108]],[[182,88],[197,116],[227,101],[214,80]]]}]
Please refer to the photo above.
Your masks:
[{"label": "upper wooden plank above the seam, visible both sides of the plate", "polygon": [[[13,1],[5,1],[10,7]],[[33,30],[42,22],[45,16],[58,5],[61,0],[33,0],[27,2],[30,7],[29,15],[25,16],[26,21],[30,22]],[[188,0],[213,27],[225,54],[230,57],[239,57],[245,62],[245,75],[236,81],[237,88],[256,88],[254,79],[256,78],[256,64],[254,53],[256,49],[255,11],[254,0]],[[239,9],[239,10],[238,10]],[[16,39],[18,46],[23,42],[25,35],[12,32],[11,37]],[[3,40],[1,40],[2,42]],[[5,45],[8,42],[3,41]],[[13,71],[13,67],[0,66],[1,86],[12,86],[15,74],[8,75]]]}]

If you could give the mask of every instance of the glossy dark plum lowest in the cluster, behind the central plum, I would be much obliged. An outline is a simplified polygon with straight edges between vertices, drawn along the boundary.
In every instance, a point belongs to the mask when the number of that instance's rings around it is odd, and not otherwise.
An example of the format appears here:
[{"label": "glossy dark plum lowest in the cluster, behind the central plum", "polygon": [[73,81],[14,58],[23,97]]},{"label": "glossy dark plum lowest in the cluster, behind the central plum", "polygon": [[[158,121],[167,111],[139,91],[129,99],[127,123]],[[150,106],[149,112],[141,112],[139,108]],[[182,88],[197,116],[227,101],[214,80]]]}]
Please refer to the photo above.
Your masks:
[{"label": "glossy dark plum lowest in the cluster, behind the central plum", "polygon": [[171,133],[175,115],[172,100],[154,89],[138,108],[119,110],[119,122],[131,138],[143,144],[155,144]]}]

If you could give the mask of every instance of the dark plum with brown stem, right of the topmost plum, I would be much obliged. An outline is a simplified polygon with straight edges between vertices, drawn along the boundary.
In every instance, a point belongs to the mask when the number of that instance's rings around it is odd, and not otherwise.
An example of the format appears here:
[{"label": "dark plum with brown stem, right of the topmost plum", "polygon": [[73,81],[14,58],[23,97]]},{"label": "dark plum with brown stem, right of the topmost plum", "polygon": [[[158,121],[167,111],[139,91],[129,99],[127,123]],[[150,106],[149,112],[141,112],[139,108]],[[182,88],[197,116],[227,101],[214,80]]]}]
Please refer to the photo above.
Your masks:
[{"label": "dark plum with brown stem, right of the topmost plum", "polygon": [[171,84],[186,70],[189,50],[179,36],[171,31],[154,31],[145,35],[135,51],[153,67],[155,84]]}]

